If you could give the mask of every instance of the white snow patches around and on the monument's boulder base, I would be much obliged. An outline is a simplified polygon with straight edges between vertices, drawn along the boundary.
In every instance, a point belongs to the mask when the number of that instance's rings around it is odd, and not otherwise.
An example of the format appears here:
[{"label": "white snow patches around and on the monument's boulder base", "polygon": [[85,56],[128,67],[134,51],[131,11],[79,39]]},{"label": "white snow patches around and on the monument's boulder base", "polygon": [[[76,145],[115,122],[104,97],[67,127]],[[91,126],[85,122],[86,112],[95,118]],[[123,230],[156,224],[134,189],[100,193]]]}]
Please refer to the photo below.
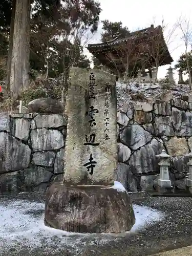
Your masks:
[{"label": "white snow patches around and on the monument's boulder base", "polygon": [[[119,182],[114,187],[123,189]],[[28,248],[45,247],[47,251],[67,247],[78,251],[87,244],[105,244],[118,239],[112,234],[77,234],[57,230],[44,225],[44,203],[26,200],[2,202],[0,204],[0,254],[1,250],[12,246]],[[136,223],[130,232],[140,230],[145,225],[163,218],[163,214],[148,207],[134,205]],[[122,236],[122,234],[121,234]],[[50,248],[52,245],[52,248]]]}]

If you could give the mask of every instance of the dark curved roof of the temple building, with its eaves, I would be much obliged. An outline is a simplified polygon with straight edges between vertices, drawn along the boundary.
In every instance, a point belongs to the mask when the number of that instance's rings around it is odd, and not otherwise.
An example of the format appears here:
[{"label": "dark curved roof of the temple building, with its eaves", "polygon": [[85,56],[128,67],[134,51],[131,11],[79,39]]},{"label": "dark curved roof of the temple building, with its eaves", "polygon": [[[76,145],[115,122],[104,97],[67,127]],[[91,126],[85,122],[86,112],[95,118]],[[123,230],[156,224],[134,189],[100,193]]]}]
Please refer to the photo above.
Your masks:
[{"label": "dark curved roof of the temple building, with its eaves", "polygon": [[[95,57],[97,57],[103,65],[110,67],[112,66],[112,64],[108,63],[109,61],[106,60],[106,56],[105,56],[106,54],[110,52],[115,52],[115,51],[118,52],[118,47],[123,44],[126,44],[126,42],[131,43],[132,41],[134,41],[139,46],[139,45],[150,44],[150,40],[152,42],[154,38],[159,39],[160,41],[159,51],[163,52],[161,59],[159,61],[159,66],[170,65],[170,63],[173,62],[173,58],[169,54],[168,48],[166,46],[166,43],[163,37],[161,26],[154,28],[154,26],[152,25],[151,27],[131,32],[129,36],[125,38],[116,36],[112,40],[101,42],[99,44],[89,44],[87,49]],[[151,63],[150,65],[153,65],[153,63]]]}]

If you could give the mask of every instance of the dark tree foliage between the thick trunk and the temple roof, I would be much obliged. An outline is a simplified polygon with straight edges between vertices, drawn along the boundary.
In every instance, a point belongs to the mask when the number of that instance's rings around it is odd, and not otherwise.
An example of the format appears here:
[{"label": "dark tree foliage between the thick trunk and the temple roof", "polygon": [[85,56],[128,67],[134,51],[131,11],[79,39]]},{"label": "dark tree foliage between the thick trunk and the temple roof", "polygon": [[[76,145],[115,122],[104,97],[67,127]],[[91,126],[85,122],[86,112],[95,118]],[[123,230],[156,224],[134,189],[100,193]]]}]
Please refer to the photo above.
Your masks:
[{"label": "dark tree foliage between the thick trunk and the temple roof", "polygon": [[80,36],[97,30],[101,11],[100,5],[92,0],[64,2],[53,17],[48,19],[38,10],[32,19],[31,67],[45,72],[48,61],[50,77],[68,73],[70,66],[90,67],[90,60],[80,45]]}]

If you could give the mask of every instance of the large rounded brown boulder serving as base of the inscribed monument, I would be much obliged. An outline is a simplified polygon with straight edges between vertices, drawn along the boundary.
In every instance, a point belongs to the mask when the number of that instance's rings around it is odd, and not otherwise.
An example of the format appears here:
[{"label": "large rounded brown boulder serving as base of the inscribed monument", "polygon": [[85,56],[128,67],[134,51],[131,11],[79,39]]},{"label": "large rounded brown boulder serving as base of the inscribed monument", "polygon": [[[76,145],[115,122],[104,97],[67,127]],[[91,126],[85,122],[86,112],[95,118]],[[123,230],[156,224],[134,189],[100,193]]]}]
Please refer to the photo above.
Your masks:
[{"label": "large rounded brown boulder serving as base of the inscribed monument", "polygon": [[70,186],[54,182],[48,189],[45,225],[79,233],[120,233],[135,224],[126,191],[106,186]]}]

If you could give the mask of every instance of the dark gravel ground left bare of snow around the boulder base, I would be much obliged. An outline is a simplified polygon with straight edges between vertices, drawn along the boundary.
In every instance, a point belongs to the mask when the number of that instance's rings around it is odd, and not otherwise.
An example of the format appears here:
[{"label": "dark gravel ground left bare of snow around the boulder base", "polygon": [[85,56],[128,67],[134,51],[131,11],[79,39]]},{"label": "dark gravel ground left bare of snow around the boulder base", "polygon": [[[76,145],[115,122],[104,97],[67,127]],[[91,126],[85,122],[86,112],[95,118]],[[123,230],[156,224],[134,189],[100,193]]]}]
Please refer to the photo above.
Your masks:
[{"label": "dark gravel ground left bare of snow around the boulder base", "polygon": [[[65,243],[65,246],[62,246],[61,240],[56,240],[55,244],[58,246],[53,245],[50,247],[50,244],[52,244],[55,239],[53,234],[49,244],[46,244],[46,241],[43,246],[38,248],[29,249],[25,243],[23,244],[22,242],[17,242],[16,244],[12,243],[12,246],[10,246],[8,249],[4,246],[6,242],[5,238],[2,238],[0,235],[0,254],[1,256],[145,256],[169,249],[176,249],[192,245],[192,198],[151,198],[145,194],[133,194],[131,197],[134,205],[146,206],[154,210],[158,210],[163,213],[163,218],[160,218],[160,220],[156,222],[150,222],[150,224],[144,225],[138,230],[113,237],[103,237],[103,235],[90,235],[87,237],[83,236],[81,239],[79,239],[79,236],[74,235],[73,240],[71,237],[68,237],[69,243]],[[14,204],[17,202],[17,200],[26,200],[28,203],[31,202],[31,207],[33,207],[33,202],[39,204],[39,209],[36,209],[35,211],[31,210],[30,212],[27,211],[28,209],[24,209],[26,211],[25,214],[29,215],[29,226],[31,218],[43,216],[44,211],[42,206],[45,203],[44,194],[30,193],[18,195],[0,195],[0,205],[3,205],[4,207],[9,207],[11,203]],[[145,210],[146,207],[143,207],[142,209]],[[148,218],[151,217],[148,216]],[[5,232],[6,231],[7,230],[5,227]],[[46,230],[46,232],[51,231]],[[58,232],[63,231],[58,230]],[[26,237],[27,236],[29,236],[29,234],[26,232]],[[66,240],[66,235],[63,235],[63,237],[65,237]],[[71,250],[71,242],[73,243],[73,241],[75,242],[74,246],[72,246],[73,250]],[[78,243],[78,246],[76,246],[75,243]]]}]

